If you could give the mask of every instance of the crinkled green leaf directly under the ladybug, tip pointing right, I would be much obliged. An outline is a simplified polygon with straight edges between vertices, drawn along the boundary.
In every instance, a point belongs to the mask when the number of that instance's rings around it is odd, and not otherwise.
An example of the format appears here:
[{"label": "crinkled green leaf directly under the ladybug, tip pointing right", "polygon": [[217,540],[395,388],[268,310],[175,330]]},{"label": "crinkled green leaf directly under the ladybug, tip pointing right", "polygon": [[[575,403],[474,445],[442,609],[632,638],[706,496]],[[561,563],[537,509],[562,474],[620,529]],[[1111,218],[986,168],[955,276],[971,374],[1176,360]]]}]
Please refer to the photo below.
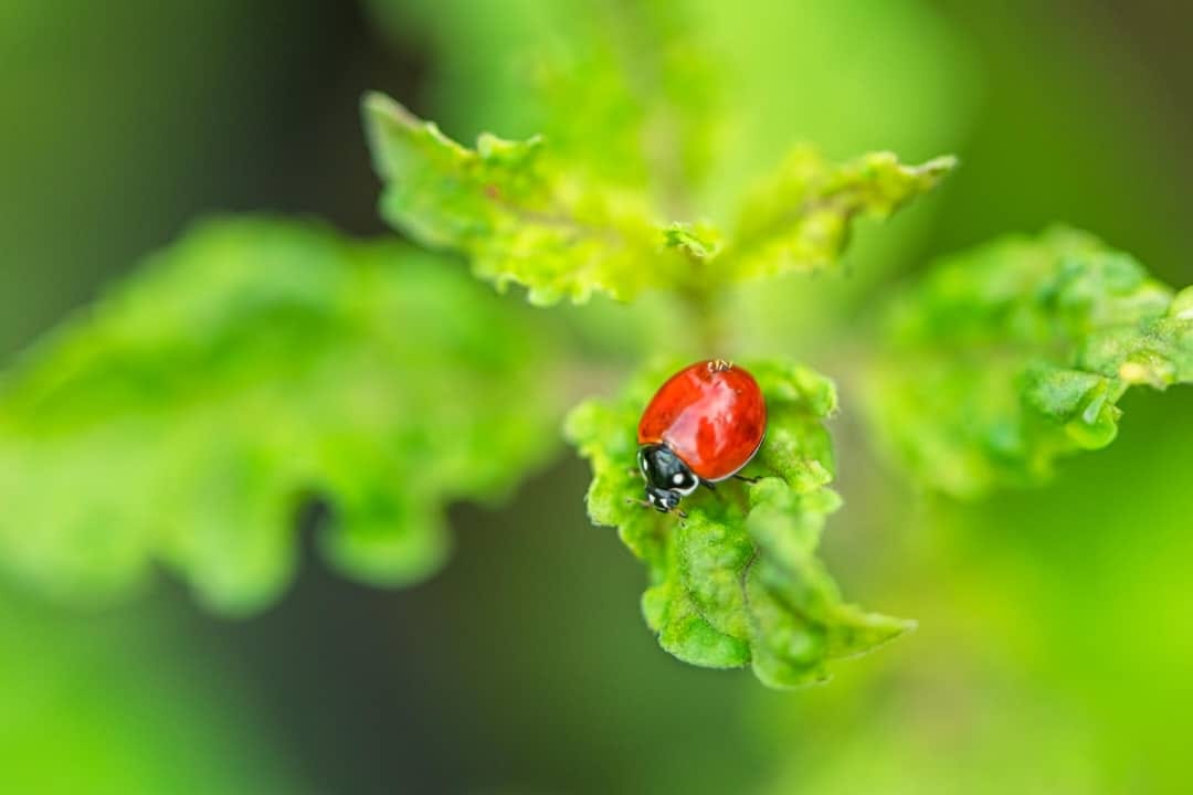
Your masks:
[{"label": "crinkled green leaf directly under the ladybug, tip pointing right", "polygon": [[650,368],[616,399],[588,400],[567,435],[589,460],[588,515],[618,529],[647,566],[647,625],[679,659],[706,667],[753,665],[771,687],[828,678],[829,665],[861,654],[909,622],[846,604],[816,548],[840,507],[827,487],[832,441],[823,421],[836,409],[833,384],[805,368],[753,362],[766,396],[766,441],[746,484],[729,480],[687,498],[688,517],[644,510],[635,472],[635,430],[654,390],[673,368]]}]

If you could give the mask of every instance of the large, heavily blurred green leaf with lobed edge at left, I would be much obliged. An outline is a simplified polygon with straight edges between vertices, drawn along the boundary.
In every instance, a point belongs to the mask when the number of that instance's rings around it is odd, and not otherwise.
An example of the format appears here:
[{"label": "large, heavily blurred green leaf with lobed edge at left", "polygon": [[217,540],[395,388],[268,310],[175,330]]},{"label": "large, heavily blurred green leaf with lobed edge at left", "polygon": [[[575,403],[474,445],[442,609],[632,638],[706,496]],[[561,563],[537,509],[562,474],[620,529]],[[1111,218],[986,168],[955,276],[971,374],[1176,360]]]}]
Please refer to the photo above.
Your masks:
[{"label": "large, heavily blurred green leaf with lobed edge at left", "polygon": [[251,610],[321,498],[332,563],[419,580],[449,552],[444,504],[500,497],[550,449],[530,315],[404,246],[203,225],[0,381],[0,567],[92,600],[160,563]]}]

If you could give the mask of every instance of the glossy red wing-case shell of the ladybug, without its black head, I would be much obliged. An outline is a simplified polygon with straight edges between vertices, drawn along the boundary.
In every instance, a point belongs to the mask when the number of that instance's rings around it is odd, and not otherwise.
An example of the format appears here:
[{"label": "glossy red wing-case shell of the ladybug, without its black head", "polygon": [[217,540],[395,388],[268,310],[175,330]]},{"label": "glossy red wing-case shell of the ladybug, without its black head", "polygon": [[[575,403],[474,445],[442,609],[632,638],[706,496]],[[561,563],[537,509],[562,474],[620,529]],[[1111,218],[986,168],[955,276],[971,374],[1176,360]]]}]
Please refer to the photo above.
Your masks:
[{"label": "glossy red wing-case shell of the ladybug, without its black head", "polygon": [[749,464],[766,434],[766,400],[748,372],[698,361],[672,375],[638,423],[638,445],[666,445],[701,480],[716,483]]}]

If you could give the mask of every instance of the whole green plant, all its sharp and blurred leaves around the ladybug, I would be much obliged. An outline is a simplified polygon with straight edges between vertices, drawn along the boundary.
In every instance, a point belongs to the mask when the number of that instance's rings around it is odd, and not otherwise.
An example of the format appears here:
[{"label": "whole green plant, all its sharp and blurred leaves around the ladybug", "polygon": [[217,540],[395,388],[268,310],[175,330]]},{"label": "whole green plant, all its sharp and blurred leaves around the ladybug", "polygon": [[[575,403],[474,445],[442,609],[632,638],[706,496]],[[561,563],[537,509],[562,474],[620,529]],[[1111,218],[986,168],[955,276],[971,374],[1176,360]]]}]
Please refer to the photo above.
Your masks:
[{"label": "whole green plant, all its sharp and blurred leaves around the ladybug", "polygon": [[[836,164],[797,147],[744,192],[731,223],[704,219],[716,207],[710,174],[729,156],[715,143],[734,116],[693,25],[698,6],[581,2],[565,13],[585,24],[561,25],[542,46],[528,20],[558,11],[511,6],[519,19],[501,32],[534,43],[526,66],[540,89],[511,105],[524,112],[514,124],[528,119],[540,136],[482,133],[470,149],[369,95],[384,217],[463,254],[499,290],[526,287],[534,304],[669,293],[697,327],[690,336],[719,346],[728,288],[833,268],[854,219],[886,218],[956,164],[889,153]],[[493,38],[505,8],[486,6],[474,27]],[[1174,299],[1078,236],[1041,246],[1050,253],[1012,256],[1026,265],[1009,277],[1002,266],[945,268],[959,275],[929,280],[896,312],[897,359],[882,372],[877,412],[941,487],[970,493],[1041,474],[1070,448],[1109,441],[1129,385],[1188,380],[1193,298]],[[444,503],[499,495],[549,446],[561,371],[540,378],[552,352],[540,321],[520,311],[401,247],[267,222],[209,228],[4,383],[0,498],[13,510],[0,549],[14,551],[5,565],[91,594],[126,588],[157,560],[210,603],[251,609],[286,580],[296,514],[323,497],[336,565],[414,582],[446,552]],[[993,355],[979,361],[973,341]],[[832,385],[803,368],[755,369],[771,403],[753,465],[762,477],[693,498],[681,524],[624,502],[641,487],[624,472],[632,429],[661,379],[581,406],[569,433],[593,459],[592,517],[618,527],[648,566],[643,609],[663,647],[797,685],[907,625],[842,603],[816,557],[840,502],[822,422]]]}]

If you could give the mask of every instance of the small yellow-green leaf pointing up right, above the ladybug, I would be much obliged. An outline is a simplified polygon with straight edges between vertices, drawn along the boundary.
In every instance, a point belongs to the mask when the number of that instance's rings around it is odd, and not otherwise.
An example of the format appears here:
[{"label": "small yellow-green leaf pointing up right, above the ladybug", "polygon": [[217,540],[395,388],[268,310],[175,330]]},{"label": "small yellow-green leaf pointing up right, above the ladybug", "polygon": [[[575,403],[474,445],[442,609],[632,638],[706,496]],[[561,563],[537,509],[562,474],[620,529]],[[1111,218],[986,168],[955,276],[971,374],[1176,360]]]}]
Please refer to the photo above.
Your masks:
[{"label": "small yellow-green leaf pointing up right, above the ladybug", "polygon": [[835,166],[797,148],[747,194],[723,267],[734,280],[827,269],[843,254],[854,218],[889,217],[956,164],[945,156],[905,166],[879,151]]}]

